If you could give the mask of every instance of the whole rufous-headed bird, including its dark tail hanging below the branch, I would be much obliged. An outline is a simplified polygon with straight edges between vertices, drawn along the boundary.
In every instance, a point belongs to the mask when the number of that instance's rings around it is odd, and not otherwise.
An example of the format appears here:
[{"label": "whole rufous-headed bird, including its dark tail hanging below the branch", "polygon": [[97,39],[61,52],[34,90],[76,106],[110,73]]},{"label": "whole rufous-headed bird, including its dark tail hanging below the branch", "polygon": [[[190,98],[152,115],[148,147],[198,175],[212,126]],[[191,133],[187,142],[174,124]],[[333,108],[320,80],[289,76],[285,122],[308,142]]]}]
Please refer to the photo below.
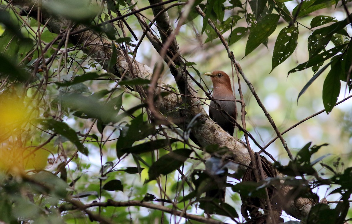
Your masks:
[{"label": "whole rufous-headed bird, including its dark tail hanging below the branch", "polygon": [[[213,98],[216,103],[212,100],[209,105],[209,116],[217,123],[222,129],[224,129],[231,136],[233,135],[235,123],[237,118],[236,101],[231,88],[230,77],[223,71],[213,71],[212,73],[207,72],[204,75],[210,76],[213,82]],[[207,198],[218,198],[221,201],[225,200],[226,190],[226,173],[225,169],[221,174],[214,174],[210,172],[210,175],[214,178],[214,183],[209,183],[210,188],[206,192]]]}]

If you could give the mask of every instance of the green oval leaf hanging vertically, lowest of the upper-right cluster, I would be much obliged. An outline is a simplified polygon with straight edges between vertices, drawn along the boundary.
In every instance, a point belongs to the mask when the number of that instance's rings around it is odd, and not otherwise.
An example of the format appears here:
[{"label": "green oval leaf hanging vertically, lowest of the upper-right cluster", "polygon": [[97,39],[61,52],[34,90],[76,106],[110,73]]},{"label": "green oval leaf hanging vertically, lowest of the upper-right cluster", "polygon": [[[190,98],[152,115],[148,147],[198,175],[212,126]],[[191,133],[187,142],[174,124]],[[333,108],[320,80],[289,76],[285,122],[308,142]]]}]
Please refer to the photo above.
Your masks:
[{"label": "green oval leaf hanging vertically, lowest of the upper-right cluster", "polygon": [[332,68],[325,78],[323,84],[323,104],[327,114],[334,108],[340,94],[340,77]]}]

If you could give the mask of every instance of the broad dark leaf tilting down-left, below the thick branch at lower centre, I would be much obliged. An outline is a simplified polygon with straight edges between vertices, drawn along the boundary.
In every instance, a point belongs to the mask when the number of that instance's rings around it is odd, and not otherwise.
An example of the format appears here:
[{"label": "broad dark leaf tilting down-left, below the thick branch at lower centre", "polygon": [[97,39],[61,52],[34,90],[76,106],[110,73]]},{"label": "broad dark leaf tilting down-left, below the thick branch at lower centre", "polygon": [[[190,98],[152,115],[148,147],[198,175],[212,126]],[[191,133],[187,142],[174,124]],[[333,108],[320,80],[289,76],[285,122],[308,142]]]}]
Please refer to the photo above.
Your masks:
[{"label": "broad dark leaf tilting down-left, below the thick branch at lower centre", "polygon": [[169,174],[180,167],[193,151],[191,149],[176,149],[160,157],[149,168],[149,180],[155,180],[159,175]]}]

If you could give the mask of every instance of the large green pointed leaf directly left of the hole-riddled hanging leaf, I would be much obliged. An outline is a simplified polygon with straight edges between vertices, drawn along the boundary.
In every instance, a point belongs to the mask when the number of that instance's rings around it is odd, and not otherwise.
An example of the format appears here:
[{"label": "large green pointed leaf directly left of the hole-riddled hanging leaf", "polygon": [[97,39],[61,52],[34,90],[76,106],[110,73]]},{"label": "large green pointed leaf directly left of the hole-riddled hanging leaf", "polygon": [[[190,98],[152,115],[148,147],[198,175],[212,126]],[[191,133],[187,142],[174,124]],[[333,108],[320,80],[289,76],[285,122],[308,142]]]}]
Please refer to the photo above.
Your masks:
[{"label": "large green pointed leaf directly left of the hole-riddled hanging leaf", "polygon": [[263,41],[272,34],[277,26],[280,16],[278,14],[269,14],[260,20],[256,26],[251,27],[245,56],[256,49]]}]

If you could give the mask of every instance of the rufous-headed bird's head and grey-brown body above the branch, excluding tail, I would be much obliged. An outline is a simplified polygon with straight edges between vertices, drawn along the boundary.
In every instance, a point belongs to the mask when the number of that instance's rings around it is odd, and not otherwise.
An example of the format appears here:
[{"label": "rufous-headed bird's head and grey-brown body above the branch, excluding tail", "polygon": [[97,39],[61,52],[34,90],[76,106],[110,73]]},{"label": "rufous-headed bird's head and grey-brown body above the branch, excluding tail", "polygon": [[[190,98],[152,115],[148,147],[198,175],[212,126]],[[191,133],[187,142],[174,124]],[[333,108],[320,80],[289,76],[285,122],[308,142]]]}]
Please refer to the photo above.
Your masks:
[{"label": "rufous-headed bird's head and grey-brown body above the branch, excluding tail", "polygon": [[207,72],[204,75],[210,76],[214,88],[212,95],[220,106],[211,101],[209,105],[209,117],[232,136],[235,128],[233,119],[236,120],[237,111],[230,77],[224,71]]}]

